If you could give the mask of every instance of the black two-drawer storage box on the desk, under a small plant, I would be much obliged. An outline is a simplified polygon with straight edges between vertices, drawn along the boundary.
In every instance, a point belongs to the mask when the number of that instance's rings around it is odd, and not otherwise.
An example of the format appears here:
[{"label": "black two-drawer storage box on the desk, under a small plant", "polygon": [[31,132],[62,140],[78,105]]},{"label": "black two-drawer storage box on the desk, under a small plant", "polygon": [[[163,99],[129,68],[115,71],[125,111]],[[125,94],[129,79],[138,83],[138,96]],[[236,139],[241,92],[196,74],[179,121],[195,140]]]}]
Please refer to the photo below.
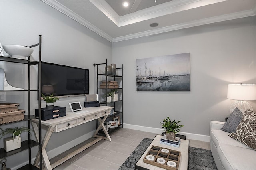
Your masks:
[{"label": "black two-drawer storage box on the desk, under a small plant", "polygon": [[[36,116],[39,116],[39,110],[35,109]],[[54,106],[53,109],[42,108],[41,119],[46,121],[57,117],[66,116],[66,107]]]}]

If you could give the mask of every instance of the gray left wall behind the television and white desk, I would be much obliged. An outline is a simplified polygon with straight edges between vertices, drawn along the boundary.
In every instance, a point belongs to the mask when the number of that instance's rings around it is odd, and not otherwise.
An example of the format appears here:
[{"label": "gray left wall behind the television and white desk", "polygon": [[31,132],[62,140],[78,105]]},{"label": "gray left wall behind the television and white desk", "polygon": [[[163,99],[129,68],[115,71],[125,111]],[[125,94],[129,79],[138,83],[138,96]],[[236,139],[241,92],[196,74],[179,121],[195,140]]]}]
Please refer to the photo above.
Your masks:
[{"label": "gray left wall behind the television and white desk", "polygon": [[[111,62],[112,43],[98,36],[88,28],[58,12],[40,0],[0,1],[0,41],[4,44],[33,45],[38,43],[38,35],[42,35],[42,61],[86,68],[90,70],[90,93],[95,93],[95,68],[93,63],[103,63],[106,58]],[[38,47],[34,47],[32,57],[38,59]],[[23,66],[0,63],[0,68],[6,71],[8,82],[16,87],[26,87],[24,77],[26,70]],[[32,69],[32,81],[37,81],[36,68]],[[22,77],[22,78],[20,78]],[[36,87],[36,86],[35,86]],[[17,93],[16,93],[17,94]],[[32,108],[38,108],[38,100],[33,94]],[[61,98],[55,105],[67,107],[68,103],[80,101],[83,105],[84,97]],[[21,103],[20,109],[26,109],[26,95],[7,92],[6,102]],[[42,107],[46,103],[42,101]],[[24,125],[17,123],[16,126]],[[1,128],[13,127],[14,124]],[[46,148],[50,151],[66,144],[92,130],[96,129],[96,121],[74,127],[59,133],[53,133]],[[43,134],[45,130],[43,131]],[[22,135],[22,140],[26,135]],[[0,148],[3,140],[0,140]],[[38,149],[33,149],[38,150]],[[34,151],[35,152],[35,151]],[[34,156],[34,155],[33,155]],[[28,160],[28,152],[22,152],[8,159],[8,167],[16,167]]]}]

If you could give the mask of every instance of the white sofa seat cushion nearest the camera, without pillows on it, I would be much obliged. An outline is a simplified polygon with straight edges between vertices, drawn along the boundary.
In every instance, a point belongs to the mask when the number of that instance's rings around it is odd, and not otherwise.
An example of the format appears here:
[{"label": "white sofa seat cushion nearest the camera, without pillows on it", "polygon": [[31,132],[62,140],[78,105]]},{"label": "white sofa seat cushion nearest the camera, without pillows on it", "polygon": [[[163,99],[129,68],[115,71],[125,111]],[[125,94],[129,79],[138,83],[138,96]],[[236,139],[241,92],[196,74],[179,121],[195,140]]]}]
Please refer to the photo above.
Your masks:
[{"label": "white sofa seat cushion nearest the camera, without pillows on it", "polygon": [[217,153],[225,170],[255,170],[256,151],[220,143]]}]

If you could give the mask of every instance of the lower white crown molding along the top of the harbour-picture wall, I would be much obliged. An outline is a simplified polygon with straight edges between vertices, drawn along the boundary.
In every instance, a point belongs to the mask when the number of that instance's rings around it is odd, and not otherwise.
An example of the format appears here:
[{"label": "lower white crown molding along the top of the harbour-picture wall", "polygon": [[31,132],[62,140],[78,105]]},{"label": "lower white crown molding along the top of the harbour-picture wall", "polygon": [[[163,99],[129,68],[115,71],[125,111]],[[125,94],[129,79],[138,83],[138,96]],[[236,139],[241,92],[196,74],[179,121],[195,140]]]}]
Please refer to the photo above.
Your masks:
[{"label": "lower white crown molding along the top of the harbour-picture wall", "polygon": [[232,13],[232,14],[226,14],[226,15],[210,17],[210,18],[205,18],[205,19],[191,21],[191,22],[185,22],[182,24],[176,24],[176,25],[167,26],[164,28],[148,30],[148,31],[139,32],[136,34],[130,34],[127,36],[120,36],[117,38],[113,38],[112,42],[120,42],[120,41],[124,41],[124,40],[130,40],[130,39],[134,39],[134,38],[140,38],[140,37],[144,37],[144,36],[150,36],[150,35],[154,35],[154,34],[160,34],[160,33],[164,33],[164,32],[180,30],[183,28],[201,26],[201,25],[205,25],[205,24],[211,24],[211,23],[215,23],[215,22],[222,22],[222,21],[227,21],[227,20],[244,18],[244,17],[248,17],[248,16],[255,16],[255,13],[252,10],[246,10],[246,11],[236,12],[236,13]]}]

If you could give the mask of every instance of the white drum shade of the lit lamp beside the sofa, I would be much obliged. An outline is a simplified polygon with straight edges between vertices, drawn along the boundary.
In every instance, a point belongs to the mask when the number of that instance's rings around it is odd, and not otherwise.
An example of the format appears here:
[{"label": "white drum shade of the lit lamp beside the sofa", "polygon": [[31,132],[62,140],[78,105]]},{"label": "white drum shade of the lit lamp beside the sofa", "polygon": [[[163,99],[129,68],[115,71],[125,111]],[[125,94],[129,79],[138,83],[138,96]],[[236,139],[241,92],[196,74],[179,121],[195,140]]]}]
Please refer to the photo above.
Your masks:
[{"label": "white drum shade of the lit lamp beside the sofa", "polygon": [[229,84],[228,99],[256,100],[256,84]]}]

